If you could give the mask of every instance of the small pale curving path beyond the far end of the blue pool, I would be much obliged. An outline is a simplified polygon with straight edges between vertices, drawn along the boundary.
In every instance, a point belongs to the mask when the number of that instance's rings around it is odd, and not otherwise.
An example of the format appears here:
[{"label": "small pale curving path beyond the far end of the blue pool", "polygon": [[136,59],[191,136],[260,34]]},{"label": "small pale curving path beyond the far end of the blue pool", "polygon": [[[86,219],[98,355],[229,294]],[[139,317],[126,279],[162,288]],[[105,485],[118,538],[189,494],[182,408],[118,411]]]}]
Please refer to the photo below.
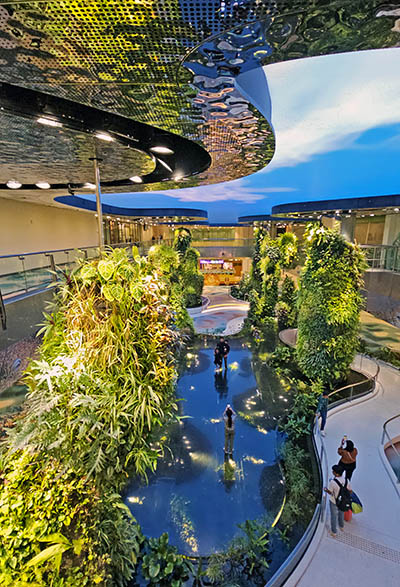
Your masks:
[{"label": "small pale curving path beyond the far end of the blue pool", "polygon": [[242,329],[249,304],[233,298],[230,287],[208,286],[203,296],[209,299],[209,304],[201,314],[193,316],[196,332],[227,336]]}]

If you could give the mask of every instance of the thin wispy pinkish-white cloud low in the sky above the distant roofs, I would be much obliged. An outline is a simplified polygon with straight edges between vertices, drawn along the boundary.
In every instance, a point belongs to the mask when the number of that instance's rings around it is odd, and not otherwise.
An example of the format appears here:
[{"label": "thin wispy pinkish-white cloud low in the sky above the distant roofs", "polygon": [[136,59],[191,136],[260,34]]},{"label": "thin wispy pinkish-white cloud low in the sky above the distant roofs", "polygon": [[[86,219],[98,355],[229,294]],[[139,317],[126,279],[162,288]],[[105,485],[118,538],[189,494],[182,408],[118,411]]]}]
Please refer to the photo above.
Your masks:
[{"label": "thin wispy pinkish-white cloud low in the sky above the distant roofs", "polygon": [[218,183],[210,186],[182,188],[157,192],[159,195],[177,198],[181,202],[220,202],[223,200],[236,200],[239,202],[253,203],[263,200],[266,194],[277,192],[293,192],[290,187],[256,187],[246,185],[246,179],[235,182]]}]

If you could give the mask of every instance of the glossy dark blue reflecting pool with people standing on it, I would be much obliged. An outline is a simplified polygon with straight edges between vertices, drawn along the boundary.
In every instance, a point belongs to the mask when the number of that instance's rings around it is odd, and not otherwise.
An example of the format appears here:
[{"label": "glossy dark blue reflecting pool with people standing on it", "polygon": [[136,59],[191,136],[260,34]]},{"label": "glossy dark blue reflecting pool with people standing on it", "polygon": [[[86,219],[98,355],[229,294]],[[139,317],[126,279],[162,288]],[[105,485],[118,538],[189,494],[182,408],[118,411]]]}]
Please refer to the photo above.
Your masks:
[{"label": "glossy dark blue reflecting pool with people standing on it", "polygon": [[[286,392],[273,372],[257,385],[251,350],[239,339],[229,341],[228,369],[215,372],[215,342],[188,349],[177,392],[184,418],[171,431],[171,454],[148,485],[132,481],[124,496],[145,535],[168,532],[187,555],[223,549],[247,519],[273,523],[284,499],[275,428]],[[224,454],[227,403],[237,414],[232,458]]]}]

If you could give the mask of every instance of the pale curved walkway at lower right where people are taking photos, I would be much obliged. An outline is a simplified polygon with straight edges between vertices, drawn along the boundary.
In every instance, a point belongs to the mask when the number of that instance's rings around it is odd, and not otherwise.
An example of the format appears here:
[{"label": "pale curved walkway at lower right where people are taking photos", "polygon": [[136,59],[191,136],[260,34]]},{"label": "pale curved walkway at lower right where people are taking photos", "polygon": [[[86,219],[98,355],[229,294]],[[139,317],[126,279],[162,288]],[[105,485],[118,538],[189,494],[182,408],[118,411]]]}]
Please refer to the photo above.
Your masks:
[{"label": "pale curved walkway at lower right where people are taking photos", "polygon": [[[360,360],[360,355],[358,360]],[[376,373],[376,363],[362,359],[360,370]],[[377,393],[361,402],[345,404],[328,414],[324,440],[329,477],[338,462],[337,448],[344,434],[359,450],[352,485],[364,511],[345,523],[332,538],[329,516],[286,587],[398,587],[400,585],[400,498],[381,451],[382,426],[400,412],[400,372],[380,362]],[[318,435],[317,444],[321,445]],[[326,485],[326,483],[325,483]]]}]

